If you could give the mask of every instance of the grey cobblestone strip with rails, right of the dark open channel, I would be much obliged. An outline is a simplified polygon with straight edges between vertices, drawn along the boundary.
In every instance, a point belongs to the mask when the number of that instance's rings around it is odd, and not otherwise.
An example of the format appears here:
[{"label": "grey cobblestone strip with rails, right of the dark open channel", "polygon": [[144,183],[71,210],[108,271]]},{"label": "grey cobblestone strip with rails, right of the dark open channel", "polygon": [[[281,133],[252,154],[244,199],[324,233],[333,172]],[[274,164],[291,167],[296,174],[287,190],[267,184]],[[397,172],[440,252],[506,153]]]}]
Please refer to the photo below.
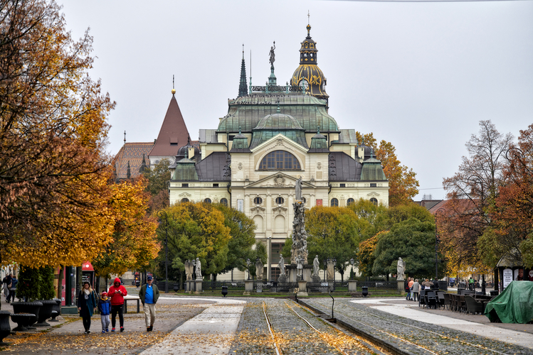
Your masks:
[{"label": "grey cobblestone strip with rails, right of the dark open channel", "polygon": [[[332,300],[307,299],[305,303],[331,314]],[[336,299],[334,317],[399,347],[408,354],[532,354],[532,349],[480,337],[434,324],[418,322],[358,304]],[[431,314],[428,314],[431,317]],[[530,337],[524,334],[524,337]],[[403,340],[411,343],[404,342]],[[533,340],[533,339],[532,339]]]}]

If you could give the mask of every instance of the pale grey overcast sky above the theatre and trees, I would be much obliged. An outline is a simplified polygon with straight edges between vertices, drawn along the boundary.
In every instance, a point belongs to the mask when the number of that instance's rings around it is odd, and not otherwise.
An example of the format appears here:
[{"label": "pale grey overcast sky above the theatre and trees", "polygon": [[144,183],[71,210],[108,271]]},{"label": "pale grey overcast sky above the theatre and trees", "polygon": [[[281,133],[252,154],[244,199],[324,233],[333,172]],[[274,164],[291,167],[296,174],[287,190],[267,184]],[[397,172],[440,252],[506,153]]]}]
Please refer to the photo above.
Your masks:
[{"label": "pale grey overcast sky above the theatre and trees", "polygon": [[63,3],[74,38],[90,27],[90,75],[117,102],[111,153],[124,131],[128,142],[157,138],[172,75],[191,138],[216,129],[238,94],[243,43],[247,75],[251,50],[252,82],[264,85],[275,40],[275,75],[285,84],[307,11],[329,114],[341,129],[393,143],[420,181],[416,200],[445,197],[442,180],[457,171],[480,120],[514,136],[533,123],[533,1]]}]

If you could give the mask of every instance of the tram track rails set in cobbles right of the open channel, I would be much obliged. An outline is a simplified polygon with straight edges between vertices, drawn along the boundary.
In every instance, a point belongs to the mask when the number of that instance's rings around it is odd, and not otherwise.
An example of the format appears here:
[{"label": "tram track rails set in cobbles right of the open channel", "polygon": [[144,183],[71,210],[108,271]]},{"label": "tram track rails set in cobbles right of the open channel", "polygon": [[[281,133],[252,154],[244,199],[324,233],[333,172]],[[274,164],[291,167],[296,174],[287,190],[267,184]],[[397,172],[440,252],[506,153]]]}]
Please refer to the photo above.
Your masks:
[{"label": "tram track rails set in cobbles right of the open channel", "polygon": [[[319,315],[327,315],[326,312],[329,311],[329,309],[326,307],[326,305],[324,305],[322,302],[318,302],[318,304],[321,305],[323,307],[323,309],[319,309],[315,305],[310,305],[309,302],[305,302],[305,301],[302,301],[302,300],[300,300],[300,302],[302,304],[304,304],[306,307],[309,307],[310,310],[312,310],[313,312],[316,312]],[[342,318],[343,318],[342,320],[339,319],[339,318],[336,319],[336,322],[338,324],[340,324],[342,327],[346,327],[347,329],[351,330],[355,334],[359,334],[362,337],[368,337],[368,339],[373,341],[375,344],[381,344],[381,346],[384,346],[389,351],[396,352],[396,354],[412,354],[412,353],[410,351],[405,352],[402,349],[398,349],[397,346],[395,346],[394,344],[391,344],[391,342],[386,342],[383,339],[379,339],[379,337],[376,337],[374,334],[370,334],[369,332],[366,332],[362,328],[368,327],[370,329],[374,329],[374,331],[379,332],[381,334],[386,334],[388,337],[393,337],[394,339],[396,339],[396,340],[398,340],[400,342],[403,342],[405,344],[410,344],[411,346],[415,346],[418,349],[417,354],[436,354],[436,355],[450,354],[450,352],[447,351],[447,350],[438,351],[438,349],[428,349],[428,347],[426,347],[426,346],[422,346],[421,344],[416,344],[416,342],[414,342],[413,339],[405,339],[404,337],[401,337],[398,334],[392,334],[392,332],[389,329],[384,329],[383,327],[381,327],[381,328],[380,327],[376,327],[376,324],[374,322],[372,322],[372,324],[370,324],[369,322],[363,322],[360,319],[360,317],[359,317],[359,320],[357,320],[357,319],[355,319],[354,315],[349,315],[349,314],[347,314],[347,312],[344,312],[344,310],[339,310],[338,308],[339,307],[336,307],[334,309],[334,313],[336,315],[341,315]],[[481,344],[473,344],[471,342],[467,342],[467,341],[462,340],[462,339],[453,338],[453,337],[450,337],[450,336],[445,335],[445,334],[439,334],[437,332],[433,332],[433,331],[431,331],[429,329],[424,329],[422,327],[417,327],[417,326],[415,326],[413,324],[408,324],[406,322],[399,322],[398,320],[392,320],[391,317],[379,316],[379,315],[374,314],[374,312],[368,312],[368,311],[365,311],[365,310],[361,310],[359,308],[352,308],[352,310],[354,310],[355,312],[362,313],[362,314],[364,314],[366,316],[374,317],[374,318],[376,318],[376,319],[378,319],[380,321],[385,321],[385,322],[389,322],[389,323],[391,323],[391,322],[395,323],[395,324],[397,324],[400,327],[403,327],[405,329],[416,329],[418,332],[430,334],[431,337],[439,337],[440,339],[443,339],[443,340],[448,341],[448,342],[458,343],[460,346],[467,346],[467,349],[478,351],[479,354],[491,354],[491,355],[510,355],[510,354],[515,354],[514,351],[507,353],[507,352],[503,352],[503,351],[498,351],[496,349],[490,349],[489,347],[482,346]],[[363,327],[356,327],[355,324],[362,325]],[[428,338],[427,337],[423,337],[423,339],[425,340],[425,343],[428,343],[428,341],[427,341]],[[464,349],[464,348],[462,348],[462,349]]]}]

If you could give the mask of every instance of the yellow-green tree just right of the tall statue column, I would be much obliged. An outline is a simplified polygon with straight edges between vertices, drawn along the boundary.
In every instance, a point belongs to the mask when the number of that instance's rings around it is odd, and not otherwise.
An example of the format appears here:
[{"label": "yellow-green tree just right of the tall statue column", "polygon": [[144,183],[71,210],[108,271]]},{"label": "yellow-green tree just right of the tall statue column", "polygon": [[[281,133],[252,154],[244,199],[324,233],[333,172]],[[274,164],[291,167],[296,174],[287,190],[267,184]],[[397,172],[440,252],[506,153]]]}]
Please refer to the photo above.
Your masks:
[{"label": "yellow-green tree just right of the tall statue column", "polygon": [[349,260],[355,258],[359,245],[357,216],[348,207],[315,206],[305,214],[307,230],[308,262],[315,255],[320,260],[335,258],[337,271],[344,279],[344,271],[350,266]]}]

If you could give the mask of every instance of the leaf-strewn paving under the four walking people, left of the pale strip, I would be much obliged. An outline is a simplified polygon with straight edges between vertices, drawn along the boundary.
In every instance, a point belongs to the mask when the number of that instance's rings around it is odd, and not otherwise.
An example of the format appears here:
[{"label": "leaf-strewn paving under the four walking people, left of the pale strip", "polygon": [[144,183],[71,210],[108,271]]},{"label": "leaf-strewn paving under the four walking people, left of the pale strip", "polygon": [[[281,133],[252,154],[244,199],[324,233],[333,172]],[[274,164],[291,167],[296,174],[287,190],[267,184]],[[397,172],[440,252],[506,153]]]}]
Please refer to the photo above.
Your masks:
[{"label": "leaf-strewn paving under the four walking people, left of the pale strip", "polygon": [[[162,339],[172,329],[202,312],[205,300],[171,299],[162,296],[157,302],[157,318],[153,332],[146,332],[144,313],[137,313],[136,307],[131,307],[125,315],[125,332],[109,332],[102,334],[100,315],[91,320],[91,334],[83,334],[81,318],[77,316],[64,317],[62,326],[47,329],[42,332],[28,332],[10,335],[4,342],[11,346],[1,349],[2,354],[138,354]],[[2,305],[4,308],[4,305]],[[135,312],[132,312],[135,308]],[[118,317],[117,317],[118,329]]]}]

